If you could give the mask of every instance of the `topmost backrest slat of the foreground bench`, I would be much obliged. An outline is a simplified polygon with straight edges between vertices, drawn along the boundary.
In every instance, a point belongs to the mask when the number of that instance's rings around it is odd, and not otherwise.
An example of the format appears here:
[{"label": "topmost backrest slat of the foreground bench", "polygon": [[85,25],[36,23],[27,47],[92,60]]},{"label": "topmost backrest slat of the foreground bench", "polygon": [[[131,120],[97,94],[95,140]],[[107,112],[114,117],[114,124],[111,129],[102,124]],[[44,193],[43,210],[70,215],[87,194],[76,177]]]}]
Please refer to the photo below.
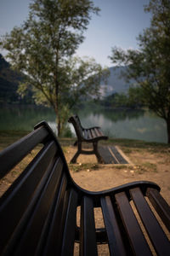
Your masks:
[{"label": "topmost backrest slat of the foreground bench", "polygon": [[48,136],[48,131],[43,127],[32,131],[26,137],[21,138],[12,146],[5,148],[0,153],[0,178],[4,177],[20,160],[22,160],[32,148]]}]

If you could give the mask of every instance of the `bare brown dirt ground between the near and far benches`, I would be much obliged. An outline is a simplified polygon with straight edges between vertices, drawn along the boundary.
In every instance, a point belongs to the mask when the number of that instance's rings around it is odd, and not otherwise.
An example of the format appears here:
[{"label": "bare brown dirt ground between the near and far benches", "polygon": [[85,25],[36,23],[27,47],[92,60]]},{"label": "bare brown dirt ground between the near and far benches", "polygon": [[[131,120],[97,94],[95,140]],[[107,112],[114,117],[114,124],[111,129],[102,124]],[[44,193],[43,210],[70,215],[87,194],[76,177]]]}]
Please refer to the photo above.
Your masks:
[{"label": "bare brown dirt ground between the near and far benches", "polygon": [[[127,151],[127,152],[126,152]],[[65,148],[70,162],[76,148]],[[170,204],[170,148],[157,152],[153,148],[122,148],[133,165],[98,165],[94,155],[80,155],[77,165],[70,165],[71,175],[84,189],[103,190],[138,180],[157,183]]]}]

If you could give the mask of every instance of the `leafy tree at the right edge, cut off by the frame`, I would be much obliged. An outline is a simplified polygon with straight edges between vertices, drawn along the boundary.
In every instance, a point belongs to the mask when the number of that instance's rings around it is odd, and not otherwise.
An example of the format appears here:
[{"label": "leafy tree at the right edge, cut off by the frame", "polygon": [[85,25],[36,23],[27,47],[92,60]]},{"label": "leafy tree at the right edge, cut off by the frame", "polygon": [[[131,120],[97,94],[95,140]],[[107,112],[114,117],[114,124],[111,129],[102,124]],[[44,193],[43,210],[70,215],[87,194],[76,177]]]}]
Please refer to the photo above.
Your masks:
[{"label": "leafy tree at the right edge, cut off by the frame", "polygon": [[145,6],[152,13],[150,27],[139,34],[139,49],[112,49],[111,60],[128,66],[127,79],[135,79],[143,101],[167,122],[170,143],[170,2],[150,0]]}]

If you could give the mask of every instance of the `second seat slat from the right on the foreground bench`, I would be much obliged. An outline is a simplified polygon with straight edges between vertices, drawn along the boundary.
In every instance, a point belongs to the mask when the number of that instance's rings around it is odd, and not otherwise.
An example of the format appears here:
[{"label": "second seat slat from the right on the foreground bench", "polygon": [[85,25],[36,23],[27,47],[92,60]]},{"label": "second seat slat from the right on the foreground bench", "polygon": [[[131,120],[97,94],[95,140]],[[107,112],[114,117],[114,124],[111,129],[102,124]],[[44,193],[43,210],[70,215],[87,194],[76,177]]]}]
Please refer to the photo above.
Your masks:
[{"label": "second seat slat from the right on the foreground bench", "polygon": [[135,207],[139,212],[139,216],[144,223],[144,227],[147,230],[150,240],[156,249],[158,255],[166,256],[170,253],[170,242],[167,240],[167,236],[158,224],[156,217],[151,212],[148,203],[145,201],[139,188],[131,189],[130,193],[133,197]]}]

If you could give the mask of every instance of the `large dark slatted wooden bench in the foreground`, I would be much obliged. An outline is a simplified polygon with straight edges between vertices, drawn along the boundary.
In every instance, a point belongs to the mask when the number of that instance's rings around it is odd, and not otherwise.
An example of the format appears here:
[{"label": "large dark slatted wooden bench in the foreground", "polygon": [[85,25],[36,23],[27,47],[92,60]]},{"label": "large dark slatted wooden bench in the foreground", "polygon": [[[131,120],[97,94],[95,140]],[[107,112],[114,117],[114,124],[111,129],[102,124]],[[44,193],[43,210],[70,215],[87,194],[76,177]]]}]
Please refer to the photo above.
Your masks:
[{"label": "large dark slatted wooden bench in the foreground", "polygon": [[[87,256],[98,255],[99,243],[108,243],[111,255],[169,255],[170,208],[156,183],[139,181],[101,192],[80,188],[46,122],[0,153],[0,177],[34,148],[38,153],[0,200],[0,255],[73,255],[75,242]],[[105,223],[99,229],[96,208]]]}]

